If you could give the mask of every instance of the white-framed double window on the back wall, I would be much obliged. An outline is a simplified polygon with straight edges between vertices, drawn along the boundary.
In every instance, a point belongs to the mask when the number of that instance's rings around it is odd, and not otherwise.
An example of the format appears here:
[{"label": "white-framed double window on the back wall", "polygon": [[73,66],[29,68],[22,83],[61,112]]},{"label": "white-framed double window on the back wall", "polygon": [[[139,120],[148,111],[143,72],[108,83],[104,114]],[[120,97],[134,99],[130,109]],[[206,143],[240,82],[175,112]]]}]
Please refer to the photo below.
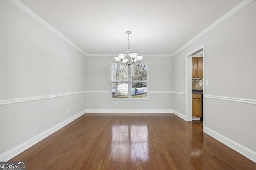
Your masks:
[{"label": "white-framed double window on the back wall", "polygon": [[148,64],[111,64],[111,100],[148,100]]}]

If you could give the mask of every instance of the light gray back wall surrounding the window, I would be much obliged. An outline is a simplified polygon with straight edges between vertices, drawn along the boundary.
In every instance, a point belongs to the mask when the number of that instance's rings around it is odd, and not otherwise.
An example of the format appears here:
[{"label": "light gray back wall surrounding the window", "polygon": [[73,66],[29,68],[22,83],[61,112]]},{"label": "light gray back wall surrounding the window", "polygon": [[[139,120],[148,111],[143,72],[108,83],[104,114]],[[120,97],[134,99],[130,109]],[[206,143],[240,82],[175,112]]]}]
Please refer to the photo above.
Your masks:
[{"label": "light gray back wall surrounding the window", "polygon": [[[172,109],[172,58],[144,57],[149,63],[149,102],[110,102],[110,63],[114,57],[86,57],[86,109],[107,111],[108,109]],[[168,92],[168,93],[164,93]],[[139,110],[138,110],[139,111]]]}]

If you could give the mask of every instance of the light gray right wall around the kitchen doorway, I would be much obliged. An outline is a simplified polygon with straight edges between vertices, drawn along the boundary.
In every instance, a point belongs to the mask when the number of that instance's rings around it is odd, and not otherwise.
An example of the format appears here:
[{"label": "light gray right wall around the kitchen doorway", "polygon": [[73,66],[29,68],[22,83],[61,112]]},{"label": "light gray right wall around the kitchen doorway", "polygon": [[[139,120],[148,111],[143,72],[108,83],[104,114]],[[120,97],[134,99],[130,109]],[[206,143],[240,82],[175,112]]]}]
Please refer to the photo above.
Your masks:
[{"label": "light gray right wall around the kitchen doorway", "polygon": [[[255,9],[253,1],[173,57],[174,91],[186,92],[186,55],[204,45],[204,94],[256,100]],[[180,102],[186,106],[185,98]],[[254,104],[205,98],[205,127],[255,152],[255,110]]]}]

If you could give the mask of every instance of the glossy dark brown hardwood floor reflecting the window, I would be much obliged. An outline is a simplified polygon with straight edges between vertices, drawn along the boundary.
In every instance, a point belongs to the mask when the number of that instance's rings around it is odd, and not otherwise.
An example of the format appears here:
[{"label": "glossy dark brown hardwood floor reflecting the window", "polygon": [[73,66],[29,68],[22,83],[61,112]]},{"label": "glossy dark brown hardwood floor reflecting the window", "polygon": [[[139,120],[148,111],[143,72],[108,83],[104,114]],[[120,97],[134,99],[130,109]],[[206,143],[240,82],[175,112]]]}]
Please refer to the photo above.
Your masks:
[{"label": "glossy dark brown hardwood floor reflecting the window", "polygon": [[86,113],[11,161],[27,170],[256,170],[256,163],[165,113]]}]

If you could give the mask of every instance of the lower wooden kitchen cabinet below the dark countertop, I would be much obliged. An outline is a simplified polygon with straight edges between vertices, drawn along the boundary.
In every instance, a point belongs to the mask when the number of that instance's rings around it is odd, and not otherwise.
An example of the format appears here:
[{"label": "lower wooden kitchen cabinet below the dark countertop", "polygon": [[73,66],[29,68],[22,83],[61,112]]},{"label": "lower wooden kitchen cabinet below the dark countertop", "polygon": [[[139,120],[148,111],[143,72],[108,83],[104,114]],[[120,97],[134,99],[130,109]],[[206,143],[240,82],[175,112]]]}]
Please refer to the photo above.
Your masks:
[{"label": "lower wooden kitchen cabinet below the dark countertop", "polygon": [[192,117],[202,117],[202,94],[192,94]]}]

